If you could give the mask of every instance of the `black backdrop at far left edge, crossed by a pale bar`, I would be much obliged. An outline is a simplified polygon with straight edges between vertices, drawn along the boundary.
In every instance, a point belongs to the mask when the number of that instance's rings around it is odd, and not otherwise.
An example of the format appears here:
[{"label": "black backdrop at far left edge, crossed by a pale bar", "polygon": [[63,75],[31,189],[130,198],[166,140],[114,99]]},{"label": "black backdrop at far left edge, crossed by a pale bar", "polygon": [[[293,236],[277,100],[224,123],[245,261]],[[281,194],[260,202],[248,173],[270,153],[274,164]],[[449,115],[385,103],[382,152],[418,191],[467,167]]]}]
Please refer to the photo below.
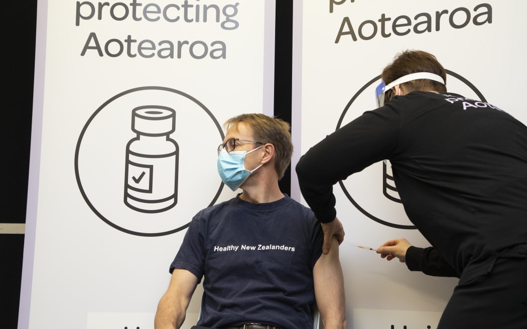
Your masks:
[{"label": "black backdrop at far left edge, crossed by a pale bar", "polygon": [[[30,159],[36,0],[2,4],[0,223],[25,223]],[[0,327],[16,328],[23,234],[0,234]]]}]

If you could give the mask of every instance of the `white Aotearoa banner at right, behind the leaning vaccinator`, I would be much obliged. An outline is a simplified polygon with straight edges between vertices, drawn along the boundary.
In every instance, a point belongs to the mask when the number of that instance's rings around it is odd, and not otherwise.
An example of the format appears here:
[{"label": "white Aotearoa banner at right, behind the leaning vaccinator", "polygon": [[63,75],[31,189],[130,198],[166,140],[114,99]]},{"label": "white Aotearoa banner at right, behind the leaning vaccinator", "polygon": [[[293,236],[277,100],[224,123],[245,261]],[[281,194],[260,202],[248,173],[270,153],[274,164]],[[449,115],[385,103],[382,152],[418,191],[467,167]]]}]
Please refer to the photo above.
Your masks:
[{"label": "white Aotearoa banner at right, behind the leaning vaccinator", "polygon": [[[482,99],[527,123],[521,97],[512,92],[527,73],[526,2],[295,0],[294,5],[293,167],[309,147],[375,108],[380,72],[405,49],[436,55],[448,70],[448,91]],[[389,163],[376,163],[334,188],[346,231],[340,255],[349,326],[434,328],[457,280],[409,272],[404,264],[353,246],[377,247],[398,237],[430,245],[406,217],[390,174]],[[291,194],[300,197],[297,186]]]}]

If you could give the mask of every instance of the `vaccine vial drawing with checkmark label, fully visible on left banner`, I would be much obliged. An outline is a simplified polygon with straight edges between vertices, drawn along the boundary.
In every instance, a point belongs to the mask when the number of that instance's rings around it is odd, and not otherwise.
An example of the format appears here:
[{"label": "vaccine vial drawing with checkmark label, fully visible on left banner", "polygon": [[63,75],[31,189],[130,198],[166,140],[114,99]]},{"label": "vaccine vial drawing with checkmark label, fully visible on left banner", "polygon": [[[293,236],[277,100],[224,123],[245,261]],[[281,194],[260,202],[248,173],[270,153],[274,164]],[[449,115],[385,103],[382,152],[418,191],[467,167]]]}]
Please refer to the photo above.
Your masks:
[{"label": "vaccine vial drawing with checkmark label, fully visible on left banner", "polygon": [[132,111],[136,137],[126,145],[124,203],[143,213],[160,213],[178,202],[179,146],[175,111],[166,106],[139,106]]}]

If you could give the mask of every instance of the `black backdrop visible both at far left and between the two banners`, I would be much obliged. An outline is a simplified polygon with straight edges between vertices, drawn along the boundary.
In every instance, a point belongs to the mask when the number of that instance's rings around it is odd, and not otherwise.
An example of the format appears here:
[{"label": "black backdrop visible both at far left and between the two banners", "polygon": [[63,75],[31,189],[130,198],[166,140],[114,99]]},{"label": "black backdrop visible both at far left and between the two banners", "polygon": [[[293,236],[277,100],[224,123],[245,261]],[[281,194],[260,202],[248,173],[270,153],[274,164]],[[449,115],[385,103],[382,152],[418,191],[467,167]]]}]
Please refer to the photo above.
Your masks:
[{"label": "black backdrop visible both at far left and between the two banners", "polygon": [[[268,1],[268,0],[266,0]],[[276,0],[274,114],[291,122],[292,0]],[[37,0],[3,2],[0,223],[25,223]],[[280,181],[290,194],[290,168]],[[0,234],[0,328],[15,329],[24,235]],[[60,310],[57,310],[60,312]]]}]

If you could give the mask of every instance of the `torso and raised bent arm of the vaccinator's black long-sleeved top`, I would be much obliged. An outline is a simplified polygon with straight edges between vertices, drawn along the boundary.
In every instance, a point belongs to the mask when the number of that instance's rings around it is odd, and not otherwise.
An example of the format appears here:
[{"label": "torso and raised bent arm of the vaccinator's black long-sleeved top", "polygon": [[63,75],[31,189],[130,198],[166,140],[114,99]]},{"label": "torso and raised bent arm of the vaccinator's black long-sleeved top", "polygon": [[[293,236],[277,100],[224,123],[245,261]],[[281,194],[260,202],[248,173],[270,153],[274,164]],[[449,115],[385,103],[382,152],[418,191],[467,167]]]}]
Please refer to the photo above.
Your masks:
[{"label": "torso and raised bent arm of the vaccinator's black long-sleeved top", "polygon": [[511,115],[451,93],[395,96],[300,158],[300,190],[318,220],[336,216],[335,183],[383,159],[409,220],[456,276],[527,250],[527,127]]}]

